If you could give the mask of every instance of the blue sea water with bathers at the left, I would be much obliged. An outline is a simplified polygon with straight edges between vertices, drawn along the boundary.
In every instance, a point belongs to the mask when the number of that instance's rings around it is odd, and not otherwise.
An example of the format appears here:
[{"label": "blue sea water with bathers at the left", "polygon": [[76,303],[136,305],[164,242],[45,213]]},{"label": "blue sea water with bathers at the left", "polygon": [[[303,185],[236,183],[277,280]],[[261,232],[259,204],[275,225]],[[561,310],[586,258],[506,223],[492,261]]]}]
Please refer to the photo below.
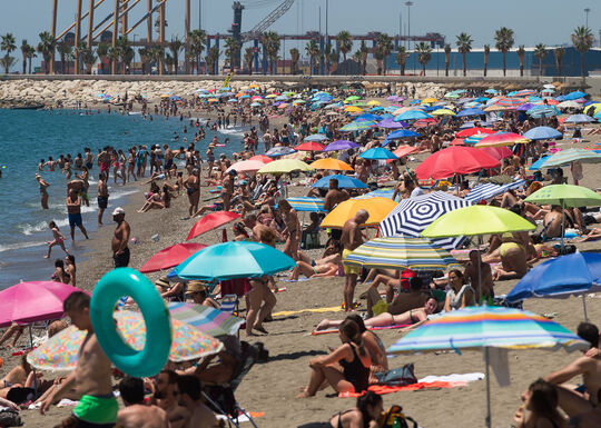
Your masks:
[{"label": "blue sea water with bathers at the left", "polygon": [[[194,116],[194,115],[193,115]],[[187,126],[188,132],[183,128]],[[122,149],[131,146],[168,143],[171,148],[187,146],[194,141],[196,128],[189,126],[189,119],[179,120],[179,117],[166,120],[154,117],[145,120],[140,115],[122,116],[116,112],[96,112],[85,115],[77,110],[1,110],[0,109],[0,289],[10,287],[21,280],[48,280],[53,271],[53,261],[63,258],[65,252],[58,246],[52,247],[50,259],[45,259],[48,249],[47,242],[52,240],[48,222],[55,220],[66,237],[66,245],[76,258],[82,256],[85,238],[76,228],[76,241],[71,242],[69,225],[67,221],[66,183],[67,179],[57,168],[53,172],[46,168],[41,171],[42,178],[50,183],[49,209],[42,210],[40,193],[36,181],[37,166],[40,159],[55,160],[59,155],[70,153],[75,159],[77,153],[83,155],[88,147],[92,153],[105,146]],[[179,136],[175,140],[175,136]],[[204,158],[208,142],[216,133],[207,131],[205,139],[197,143],[197,149]],[[225,148],[216,148],[215,153],[231,153],[242,148],[242,129],[229,128],[217,132],[220,142],[225,138],[230,143]],[[75,169],[72,169],[75,178]],[[96,183],[98,180],[98,166],[90,171],[90,207],[82,206],[83,226],[88,232],[97,228]],[[146,171],[148,177],[148,168]],[[109,180],[109,207],[105,211],[105,227],[111,226],[110,211],[126,202],[128,195],[135,192],[134,188],[124,188],[112,182],[112,169]],[[146,189],[145,189],[146,191]],[[107,252],[109,252],[107,242]]]}]

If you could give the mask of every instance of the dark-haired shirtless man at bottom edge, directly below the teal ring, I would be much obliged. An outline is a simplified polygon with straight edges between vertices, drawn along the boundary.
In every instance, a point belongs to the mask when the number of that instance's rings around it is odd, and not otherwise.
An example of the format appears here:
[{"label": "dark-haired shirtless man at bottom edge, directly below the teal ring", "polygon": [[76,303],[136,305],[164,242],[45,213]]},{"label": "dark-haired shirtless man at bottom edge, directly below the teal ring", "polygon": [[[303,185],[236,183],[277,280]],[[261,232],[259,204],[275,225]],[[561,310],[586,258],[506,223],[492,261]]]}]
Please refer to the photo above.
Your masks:
[{"label": "dark-haired shirtless man at bottom edge, directly below the teal ring", "polygon": [[126,376],[119,382],[125,408],[117,414],[118,428],[169,428],[167,412],[144,404],[144,380]]}]

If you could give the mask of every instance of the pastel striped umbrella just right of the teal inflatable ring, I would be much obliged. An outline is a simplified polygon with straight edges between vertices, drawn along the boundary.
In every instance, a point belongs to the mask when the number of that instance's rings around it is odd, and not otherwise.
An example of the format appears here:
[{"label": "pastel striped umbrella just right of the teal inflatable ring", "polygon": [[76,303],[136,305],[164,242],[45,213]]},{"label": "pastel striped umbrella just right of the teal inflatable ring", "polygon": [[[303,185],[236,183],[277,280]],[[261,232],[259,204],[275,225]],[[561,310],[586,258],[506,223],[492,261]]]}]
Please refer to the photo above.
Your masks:
[{"label": "pastel striped umbrella just right of the teal inflatable ring", "polygon": [[167,303],[171,319],[189,325],[205,335],[220,337],[236,335],[244,318],[231,316],[208,306],[171,301]]}]

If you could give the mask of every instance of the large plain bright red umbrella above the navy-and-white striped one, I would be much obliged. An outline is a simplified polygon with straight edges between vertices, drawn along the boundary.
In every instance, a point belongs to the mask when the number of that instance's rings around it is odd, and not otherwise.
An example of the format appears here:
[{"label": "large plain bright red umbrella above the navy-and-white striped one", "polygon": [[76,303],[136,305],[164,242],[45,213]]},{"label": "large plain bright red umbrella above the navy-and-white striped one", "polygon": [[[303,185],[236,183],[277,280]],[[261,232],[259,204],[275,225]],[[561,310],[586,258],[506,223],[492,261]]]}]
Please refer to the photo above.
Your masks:
[{"label": "large plain bright red umbrella above the navy-and-white striped one", "polygon": [[497,168],[499,160],[472,147],[453,146],[428,156],[415,168],[417,178],[434,180]]}]

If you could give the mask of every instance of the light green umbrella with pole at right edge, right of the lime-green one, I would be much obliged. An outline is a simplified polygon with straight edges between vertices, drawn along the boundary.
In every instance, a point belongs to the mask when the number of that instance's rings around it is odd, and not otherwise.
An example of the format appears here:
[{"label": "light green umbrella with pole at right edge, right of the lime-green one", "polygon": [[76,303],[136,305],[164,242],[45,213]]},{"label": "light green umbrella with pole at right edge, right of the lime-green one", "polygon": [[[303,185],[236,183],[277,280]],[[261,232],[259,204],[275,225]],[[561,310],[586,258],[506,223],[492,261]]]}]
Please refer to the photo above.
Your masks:
[{"label": "light green umbrella with pole at right edge, right of the lime-green one", "polygon": [[[585,151],[585,150],[583,150]],[[524,199],[526,202],[540,205],[558,205],[561,208],[566,207],[599,207],[601,206],[601,196],[583,186],[572,185],[551,185]],[[565,229],[565,216],[561,217],[561,247],[563,248],[563,231]]]}]

